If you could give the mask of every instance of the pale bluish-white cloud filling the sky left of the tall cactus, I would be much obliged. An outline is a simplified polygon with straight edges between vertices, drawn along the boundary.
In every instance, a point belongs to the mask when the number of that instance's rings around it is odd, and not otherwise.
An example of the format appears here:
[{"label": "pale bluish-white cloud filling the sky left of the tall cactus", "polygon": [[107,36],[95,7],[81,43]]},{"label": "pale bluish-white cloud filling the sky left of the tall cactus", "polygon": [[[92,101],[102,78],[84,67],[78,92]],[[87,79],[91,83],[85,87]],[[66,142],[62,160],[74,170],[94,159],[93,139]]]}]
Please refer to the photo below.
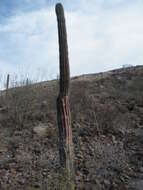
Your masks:
[{"label": "pale bluish-white cloud filling the sky left of the tall cactus", "polygon": [[[0,27],[0,33],[5,36],[0,44],[1,62],[2,58],[4,62],[9,62],[15,72],[19,68],[25,68],[24,72],[27,72],[26,68],[28,72],[46,68],[49,73],[49,70],[55,69],[55,63],[58,65],[56,18],[53,10],[43,9],[11,17],[6,25]],[[49,75],[51,77],[52,73]]]}]

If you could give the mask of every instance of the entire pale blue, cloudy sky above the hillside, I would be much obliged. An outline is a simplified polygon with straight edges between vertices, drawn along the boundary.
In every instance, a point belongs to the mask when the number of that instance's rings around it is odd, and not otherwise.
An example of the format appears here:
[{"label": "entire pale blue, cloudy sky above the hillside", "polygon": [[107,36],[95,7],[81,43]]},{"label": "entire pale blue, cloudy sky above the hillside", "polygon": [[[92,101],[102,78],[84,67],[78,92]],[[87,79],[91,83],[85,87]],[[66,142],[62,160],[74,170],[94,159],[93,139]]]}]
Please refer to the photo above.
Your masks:
[{"label": "entire pale blue, cloudy sky above the hillside", "polygon": [[71,75],[143,64],[142,0],[0,0],[0,76],[59,73],[56,2],[62,2]]}]

